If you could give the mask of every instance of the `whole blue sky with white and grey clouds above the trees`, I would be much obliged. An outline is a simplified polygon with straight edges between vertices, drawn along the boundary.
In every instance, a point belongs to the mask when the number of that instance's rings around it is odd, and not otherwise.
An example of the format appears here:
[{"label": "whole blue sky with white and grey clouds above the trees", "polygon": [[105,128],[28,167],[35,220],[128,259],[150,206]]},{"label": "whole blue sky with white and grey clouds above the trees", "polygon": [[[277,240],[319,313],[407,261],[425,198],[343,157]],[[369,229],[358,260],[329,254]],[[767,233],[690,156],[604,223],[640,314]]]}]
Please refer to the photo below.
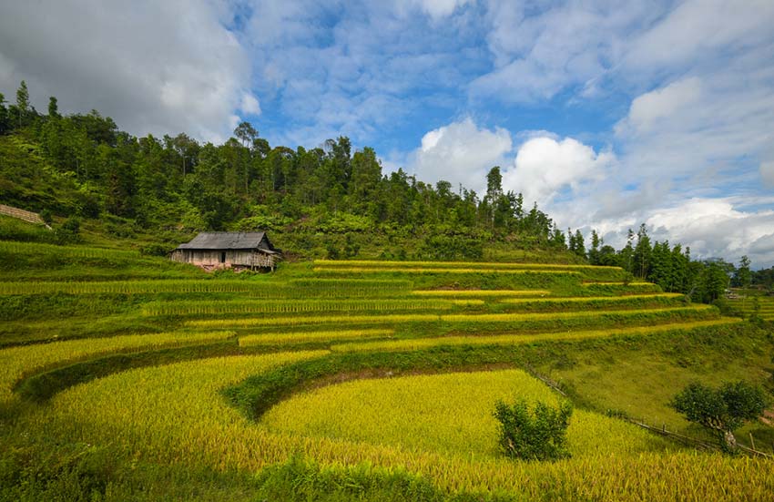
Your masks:
[{"label": "whole blue sky with white and grey clouds above the trees", "polygon": [[347,136],[620,247],[774,265],[771,0],[0,0],[0,92],[137,136]]}]

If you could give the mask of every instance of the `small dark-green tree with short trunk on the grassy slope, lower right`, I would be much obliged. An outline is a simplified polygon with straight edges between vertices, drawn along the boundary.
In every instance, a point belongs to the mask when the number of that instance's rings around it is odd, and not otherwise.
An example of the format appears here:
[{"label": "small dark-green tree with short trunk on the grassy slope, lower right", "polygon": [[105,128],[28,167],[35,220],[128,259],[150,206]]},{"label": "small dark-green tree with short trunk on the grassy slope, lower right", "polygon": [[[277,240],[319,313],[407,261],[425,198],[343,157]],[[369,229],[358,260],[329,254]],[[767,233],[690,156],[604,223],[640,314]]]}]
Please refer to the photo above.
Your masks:
[{"label": "small dark-green tree with short trunk on the grassy slope, lower right", "polygon": [[688,421],[712,430],[724,449],[734,451],[737,448],[734,430],[758,418],[767,402],[766,394],[758,385],[739,381],[722,384],[718,389],[688,384],[669,405]]}]

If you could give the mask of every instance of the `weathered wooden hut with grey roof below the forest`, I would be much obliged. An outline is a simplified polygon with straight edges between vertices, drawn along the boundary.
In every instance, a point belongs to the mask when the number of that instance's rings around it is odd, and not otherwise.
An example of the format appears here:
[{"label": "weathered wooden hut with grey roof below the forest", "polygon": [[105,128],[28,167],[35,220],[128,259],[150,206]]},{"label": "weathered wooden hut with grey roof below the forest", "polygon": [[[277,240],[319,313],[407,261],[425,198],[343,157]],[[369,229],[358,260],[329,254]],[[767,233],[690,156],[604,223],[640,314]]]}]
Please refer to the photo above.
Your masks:
[{"label": "weathered wooden hut with grey roof below the forest", "polygon": [[206,231],[172,251],[172,261],[191,263],[206,271],[217,269],[274,270],[280,250],[266,232]]}]

